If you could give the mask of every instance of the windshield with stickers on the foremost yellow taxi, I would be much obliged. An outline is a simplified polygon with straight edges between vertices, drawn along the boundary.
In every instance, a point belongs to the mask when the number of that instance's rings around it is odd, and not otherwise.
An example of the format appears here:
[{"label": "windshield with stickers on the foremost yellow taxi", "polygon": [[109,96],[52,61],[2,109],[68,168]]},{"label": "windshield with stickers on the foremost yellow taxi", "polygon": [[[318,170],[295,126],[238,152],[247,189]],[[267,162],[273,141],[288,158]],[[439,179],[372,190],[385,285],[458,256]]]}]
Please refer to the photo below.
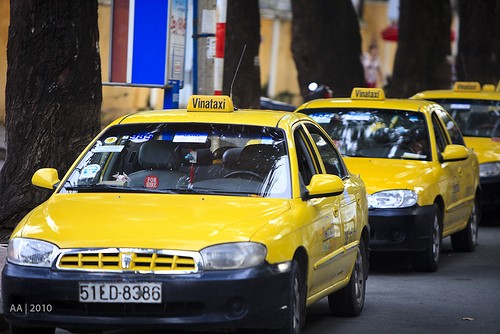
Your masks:
[{"label": "windshield with stickers on the foremost yellow taxi", "polygon": [[157,192],[291,197],[278,128],[162,123],[116,125],[85,154],[61,192]]}]

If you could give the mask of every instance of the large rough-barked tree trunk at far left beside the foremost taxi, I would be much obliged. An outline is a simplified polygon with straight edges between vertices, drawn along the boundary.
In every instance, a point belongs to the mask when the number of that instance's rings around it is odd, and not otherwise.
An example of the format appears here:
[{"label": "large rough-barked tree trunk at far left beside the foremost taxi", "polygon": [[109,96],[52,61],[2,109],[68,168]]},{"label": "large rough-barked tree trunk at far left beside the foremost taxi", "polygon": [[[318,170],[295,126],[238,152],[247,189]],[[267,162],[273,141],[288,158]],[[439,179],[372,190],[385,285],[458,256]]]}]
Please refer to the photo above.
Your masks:
[{"label": "large rough-barked tree trunk at far left beside the foremost taxi", "polygon": [[0,224],[13,227],[50,192],[31,177],[60,177],[100,129],[97,0],[12,0],[7,48],[6,144]]}]

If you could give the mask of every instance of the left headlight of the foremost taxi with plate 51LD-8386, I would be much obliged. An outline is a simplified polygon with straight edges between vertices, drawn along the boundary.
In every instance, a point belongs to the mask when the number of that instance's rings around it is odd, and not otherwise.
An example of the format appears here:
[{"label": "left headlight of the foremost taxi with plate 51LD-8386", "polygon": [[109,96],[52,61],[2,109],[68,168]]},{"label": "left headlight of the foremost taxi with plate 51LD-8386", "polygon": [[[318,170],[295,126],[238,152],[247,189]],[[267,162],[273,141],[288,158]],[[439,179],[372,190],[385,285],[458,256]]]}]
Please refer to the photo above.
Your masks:
[{"label": "left headlight of the foremost taxi with plate 51LD-8386", "polygon": [[14,238],[9,241],[7,260],[24,266],[50,267],[59,248],[46,241]]}]

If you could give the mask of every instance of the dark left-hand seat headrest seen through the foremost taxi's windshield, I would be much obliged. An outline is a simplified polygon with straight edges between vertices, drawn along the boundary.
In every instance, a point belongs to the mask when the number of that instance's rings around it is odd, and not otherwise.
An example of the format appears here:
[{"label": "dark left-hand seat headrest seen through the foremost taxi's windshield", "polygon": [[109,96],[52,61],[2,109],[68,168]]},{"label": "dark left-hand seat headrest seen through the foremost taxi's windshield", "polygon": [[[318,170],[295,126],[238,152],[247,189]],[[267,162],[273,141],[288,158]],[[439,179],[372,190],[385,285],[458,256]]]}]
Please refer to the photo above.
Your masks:
[{"label": "dark left-hand seat headrest seen through the foremost taxi's windshield", "polygon": [[177,170],[181,160],[176,146],[163,140],[149,140],[141,145],[138,161],[143,168]]}]

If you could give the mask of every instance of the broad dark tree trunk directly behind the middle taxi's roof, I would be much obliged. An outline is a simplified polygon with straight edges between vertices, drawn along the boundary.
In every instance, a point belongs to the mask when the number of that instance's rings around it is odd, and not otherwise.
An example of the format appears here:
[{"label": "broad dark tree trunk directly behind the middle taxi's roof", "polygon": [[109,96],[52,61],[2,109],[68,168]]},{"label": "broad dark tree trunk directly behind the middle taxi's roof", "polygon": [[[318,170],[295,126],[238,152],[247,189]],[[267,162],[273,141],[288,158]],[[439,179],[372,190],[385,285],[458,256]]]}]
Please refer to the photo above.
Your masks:
[{"label": "broad dark tree trunk directly behind the middle taxi's roof", "polygon": [[311,82],[334,96],[350,96],[364,86],[361,34],[351,0],[292,0],[292,53],[300,92]]}]

